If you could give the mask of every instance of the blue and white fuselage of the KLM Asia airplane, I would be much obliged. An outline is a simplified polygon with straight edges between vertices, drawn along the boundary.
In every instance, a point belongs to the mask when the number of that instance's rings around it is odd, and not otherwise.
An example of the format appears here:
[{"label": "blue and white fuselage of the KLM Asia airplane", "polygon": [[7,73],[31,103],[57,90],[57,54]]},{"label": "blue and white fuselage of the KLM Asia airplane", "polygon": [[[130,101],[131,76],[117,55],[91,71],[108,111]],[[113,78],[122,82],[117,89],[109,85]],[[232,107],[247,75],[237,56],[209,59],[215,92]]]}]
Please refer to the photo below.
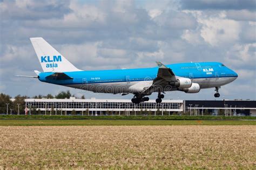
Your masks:
[{"label": "blue and white fuselage of the KLM Asia airplane", "polygon": [[[224,86],[225,84],[234,81],[238,77],[237,73],[227,68],[220,62],[177,63],[166,66],[171,68],[176,76],[186,77],[191,79],[192,82],[198,83],[201,89]],[[137,83],[153,81],[156,79],[158,67],[64,73],[73,79],[47,80],[45,77],[51,75],[52,72],[46,72],[39,74],[39,80],[42,82],[79,89],[84,89],[86,87],[90,89],[90,91],[101,93],[139,93],[139,88],[137,91],[132,91],[134,89],[131,87]],[[99,88],[99,86],[102,88]],[[109,88],[111,90],[107,90],[107,87],[116,88],[113,88],[114,90],[111,88]],[[97,89],[100,91],[97,91]],[[172,90],[176,89],[173,88]]]}]

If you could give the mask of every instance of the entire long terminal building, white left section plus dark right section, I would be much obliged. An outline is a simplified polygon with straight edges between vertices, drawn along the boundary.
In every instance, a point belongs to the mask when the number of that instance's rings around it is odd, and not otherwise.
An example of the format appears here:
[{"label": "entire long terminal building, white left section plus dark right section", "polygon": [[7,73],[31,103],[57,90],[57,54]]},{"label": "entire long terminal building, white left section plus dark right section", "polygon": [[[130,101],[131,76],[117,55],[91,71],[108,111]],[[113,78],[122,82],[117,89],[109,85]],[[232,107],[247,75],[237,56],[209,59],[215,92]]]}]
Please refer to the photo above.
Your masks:
[{"label": "entire long terminal building, white left section plus dark right section", "polygon": [[40,110],[47,115],[226,115],[256,116],[256,101],[154,100],[134,104],[131,100],[27,98],[25,112]]}]

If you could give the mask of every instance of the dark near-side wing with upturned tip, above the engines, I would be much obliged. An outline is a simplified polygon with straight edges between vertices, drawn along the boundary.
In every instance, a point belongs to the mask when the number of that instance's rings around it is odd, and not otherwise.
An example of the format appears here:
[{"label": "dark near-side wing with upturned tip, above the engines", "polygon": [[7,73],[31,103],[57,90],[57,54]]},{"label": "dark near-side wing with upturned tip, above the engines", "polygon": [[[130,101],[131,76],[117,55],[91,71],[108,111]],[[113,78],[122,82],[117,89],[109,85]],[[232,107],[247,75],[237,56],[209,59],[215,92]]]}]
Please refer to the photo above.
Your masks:
[{"label": "dark near-side wing with upturned tip, above the engines", "polygon": [[163,63],[159,61],[157,61],[156,63],[159,67],[157,77],[153,80],[152,86],[144,89],[142,93],[147,93],[147,91],[150,91],[153,88],[165,87],[169,85],[170,82],[177,81],[176,76],[172,72],[172,69],[166,67],[165,65],[163,65]]}]

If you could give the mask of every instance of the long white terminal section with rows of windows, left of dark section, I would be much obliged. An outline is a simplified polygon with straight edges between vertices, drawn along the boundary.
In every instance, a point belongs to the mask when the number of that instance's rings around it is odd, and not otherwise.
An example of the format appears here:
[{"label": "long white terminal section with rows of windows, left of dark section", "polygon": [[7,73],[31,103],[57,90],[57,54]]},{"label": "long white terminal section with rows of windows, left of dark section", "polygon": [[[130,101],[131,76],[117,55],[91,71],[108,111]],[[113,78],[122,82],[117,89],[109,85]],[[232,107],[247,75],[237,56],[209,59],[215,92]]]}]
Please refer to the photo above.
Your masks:
[{"label": "long white terminal section with rows of windows, left of dark section", "polygon": [[[138,112],[150,111],[152,114],[157,114],[161,112],[183,112],[185,109],[183,100],[164,100],[162,103],[156,103],[154,100],[149,100],[147,102],[134,104],[131,100],[113,100],[113,99],[77,99],[75,97],[70,97],[69,99],[38,99],[38,98],[28,98],[25,99],[26,110],[31,111],[31,108],[36,108],[44,111],[50,111],[50,114],[60,114],[66,115],[71,111],[75,110],[79,114],[84,115],[120,115],[125,112],[125,115],[138,114]],[[55,111],[55,113],[54,113]]]}]

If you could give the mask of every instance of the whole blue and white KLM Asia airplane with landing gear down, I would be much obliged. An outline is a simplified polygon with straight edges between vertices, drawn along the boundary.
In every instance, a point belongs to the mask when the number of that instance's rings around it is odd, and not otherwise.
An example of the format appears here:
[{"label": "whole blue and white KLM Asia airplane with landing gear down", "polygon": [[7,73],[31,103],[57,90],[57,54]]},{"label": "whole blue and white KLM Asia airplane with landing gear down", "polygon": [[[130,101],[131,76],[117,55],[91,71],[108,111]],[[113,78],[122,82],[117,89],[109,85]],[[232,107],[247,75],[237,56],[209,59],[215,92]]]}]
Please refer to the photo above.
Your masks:
[{"label": "whole blue and white KLM Asia airplane with landing gear down", "polygon": [[[93,91],[94,93],[133,94],[132,103],[149,101],[158,93],[161,103],[166,91],[199,93],[200,89],[215,88],[214,97],[220,97],[219,88],[237,79],[238,74],[220,62],[188,62],[156,67],[80,70],[43,38],[30,38],[44,72],[35,70],[39,81]],[[81,59],[82,60],[82,59]],[[21,76],[21,75],[19,75]]]}]

